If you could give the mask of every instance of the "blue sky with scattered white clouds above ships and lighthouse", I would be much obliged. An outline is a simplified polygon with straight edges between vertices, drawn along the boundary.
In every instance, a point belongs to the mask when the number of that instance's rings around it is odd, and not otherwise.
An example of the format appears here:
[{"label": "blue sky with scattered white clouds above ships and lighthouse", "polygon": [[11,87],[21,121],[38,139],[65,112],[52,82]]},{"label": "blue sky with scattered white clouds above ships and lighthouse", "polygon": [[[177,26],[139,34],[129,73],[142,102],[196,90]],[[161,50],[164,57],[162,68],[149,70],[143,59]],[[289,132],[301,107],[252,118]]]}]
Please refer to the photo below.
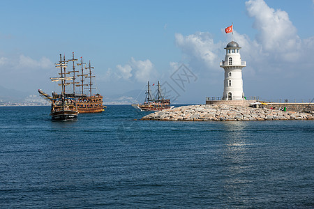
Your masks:
[{"label": "blue sky with scattered white clouds above ships and lighthouse", "polygon": [[[59,54],[91,61],[106,97],[167,86],[172,100],[223,95],[225,49],[233,23],[246,98],[314,98],[314,0],[3,1],[0,86],[38,94]],[[154,86],[153,86],[154,87]],[[105,100],[105,99],[104,99]]]}]

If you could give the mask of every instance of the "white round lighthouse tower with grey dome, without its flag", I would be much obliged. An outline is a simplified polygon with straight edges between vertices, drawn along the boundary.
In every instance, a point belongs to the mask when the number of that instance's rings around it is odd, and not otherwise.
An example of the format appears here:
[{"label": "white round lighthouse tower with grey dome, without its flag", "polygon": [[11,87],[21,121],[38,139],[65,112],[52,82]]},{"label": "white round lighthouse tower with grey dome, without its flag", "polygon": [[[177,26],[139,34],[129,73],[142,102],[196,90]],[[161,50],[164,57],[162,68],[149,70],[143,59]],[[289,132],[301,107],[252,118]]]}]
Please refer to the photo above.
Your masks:
[{"label": "white round lighthouse tower with grey dome, without its flag", "polygon": [[237,42],[229,42],[225,47],[225,61],[220,62],[220,68],[225,70],[223,100],[244,100],[242,68],[246,61],[241,61]]}]

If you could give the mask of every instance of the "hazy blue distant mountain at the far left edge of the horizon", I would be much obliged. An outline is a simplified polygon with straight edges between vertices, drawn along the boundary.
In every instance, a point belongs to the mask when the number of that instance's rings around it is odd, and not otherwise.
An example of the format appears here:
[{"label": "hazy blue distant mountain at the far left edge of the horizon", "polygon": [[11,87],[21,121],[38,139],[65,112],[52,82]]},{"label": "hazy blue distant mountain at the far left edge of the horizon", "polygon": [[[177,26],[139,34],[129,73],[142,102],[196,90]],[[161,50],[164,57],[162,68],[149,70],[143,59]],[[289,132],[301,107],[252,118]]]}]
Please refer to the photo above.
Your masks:
[{"label": "hazy blue distant mountain at the far left edge of the horizon", "polygon": [[0,86],[0,101],[2,102],[20,102],[31,93],[8,89]]}]

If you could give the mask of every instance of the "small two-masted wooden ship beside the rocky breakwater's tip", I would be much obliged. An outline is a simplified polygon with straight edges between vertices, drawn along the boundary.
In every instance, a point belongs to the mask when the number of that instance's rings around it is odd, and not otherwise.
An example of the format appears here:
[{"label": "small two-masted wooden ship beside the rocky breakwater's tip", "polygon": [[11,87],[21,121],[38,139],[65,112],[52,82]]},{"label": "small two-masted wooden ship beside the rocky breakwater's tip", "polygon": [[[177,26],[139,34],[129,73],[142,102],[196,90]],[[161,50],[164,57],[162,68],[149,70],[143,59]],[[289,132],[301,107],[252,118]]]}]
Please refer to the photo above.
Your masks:
[{"label": "small two-masted wooden ship beside the rocky breakwater's tip", "polygon": [[[154,84],[153,84],[154,86]],[[162,93],[161,93],[161,88],[160,84],[158,82],[158,90],[156,97],[153,98],[151,96],[151,91],[150,91],[150,85],[149,82],[147,82],[147,91],[145,92],[146,97],[144,100],[143,104],[132,104],[133,107],[140,109],[141,111],[159,111],[163,109],[170,109],[173,106],[170,106],[170,100],[166,100]]]}]

